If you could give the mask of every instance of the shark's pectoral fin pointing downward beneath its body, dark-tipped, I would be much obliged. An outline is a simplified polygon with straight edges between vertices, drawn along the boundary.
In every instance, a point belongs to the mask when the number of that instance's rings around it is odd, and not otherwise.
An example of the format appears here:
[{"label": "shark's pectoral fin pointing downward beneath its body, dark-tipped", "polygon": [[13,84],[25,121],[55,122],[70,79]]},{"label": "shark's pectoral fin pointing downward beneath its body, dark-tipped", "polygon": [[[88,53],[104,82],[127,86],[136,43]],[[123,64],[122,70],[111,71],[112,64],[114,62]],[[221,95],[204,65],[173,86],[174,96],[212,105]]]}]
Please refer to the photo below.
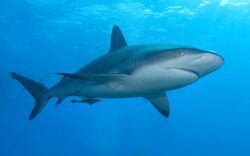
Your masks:
[{"label": "shark's pectoral fin pointing downward beneath its body, dark-tipped", "polygon": [[144,98],[150,101],[163,116],[169,116],[170,107],[167,95],[165,93],[155,94]]}]

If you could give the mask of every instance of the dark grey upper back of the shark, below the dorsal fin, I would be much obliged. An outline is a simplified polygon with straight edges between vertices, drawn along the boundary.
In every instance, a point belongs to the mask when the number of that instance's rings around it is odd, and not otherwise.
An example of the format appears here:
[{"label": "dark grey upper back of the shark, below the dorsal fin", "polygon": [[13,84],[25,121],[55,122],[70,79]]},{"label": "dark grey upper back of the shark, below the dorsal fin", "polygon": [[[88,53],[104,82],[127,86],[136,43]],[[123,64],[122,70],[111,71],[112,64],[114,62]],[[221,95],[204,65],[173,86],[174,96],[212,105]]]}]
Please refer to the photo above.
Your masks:
[{"label": "dark grey upper back of the shark, below the dorsal fin", "polygon": [[149,53],[167,51],[179,48],[178,45],[132,45],[107,53],[84,67],[76,73],[123,73],[127,74],[134,68],[134,61]]}]

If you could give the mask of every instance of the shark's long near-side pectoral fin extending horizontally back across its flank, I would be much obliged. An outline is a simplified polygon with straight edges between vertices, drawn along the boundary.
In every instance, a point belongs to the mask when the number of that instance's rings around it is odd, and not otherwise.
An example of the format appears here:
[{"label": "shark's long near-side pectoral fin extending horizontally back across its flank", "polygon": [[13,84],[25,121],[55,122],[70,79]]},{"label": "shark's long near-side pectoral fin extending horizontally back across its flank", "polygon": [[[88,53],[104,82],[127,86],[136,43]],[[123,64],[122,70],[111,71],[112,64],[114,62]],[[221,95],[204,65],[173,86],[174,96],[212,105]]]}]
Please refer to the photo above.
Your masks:
[{"label": "shark's long near-side pectoral fin extending horizontally back across its flank", "polygon": [[127,74],[85,74],[85,73],[56,73],[74,79],[84,79],[90,81],[109,82],[120,80],[128,76]]}]

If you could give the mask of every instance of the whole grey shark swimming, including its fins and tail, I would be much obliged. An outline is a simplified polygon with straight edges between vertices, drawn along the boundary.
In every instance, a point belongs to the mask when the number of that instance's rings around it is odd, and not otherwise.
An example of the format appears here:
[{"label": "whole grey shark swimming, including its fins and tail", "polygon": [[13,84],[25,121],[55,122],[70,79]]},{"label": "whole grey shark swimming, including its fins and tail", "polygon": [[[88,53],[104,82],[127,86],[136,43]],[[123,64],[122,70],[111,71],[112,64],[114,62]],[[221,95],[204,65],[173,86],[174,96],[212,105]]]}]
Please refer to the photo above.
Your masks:
[{"label": "whole grey shark swimming, including its fins and tail", "polygon": [[129,46],[116,25],[113,26],[108,53],[74,73],[56,73],[63,78],[52,88],[12,72],[35,99],[30,120],[52,97],[57,104],[66,97],[94,104],[99,98],[143,97],[165,117],[170,108],[166,91],[187,86],[217,70],[224,60],[213,52],[178,45]]}]

